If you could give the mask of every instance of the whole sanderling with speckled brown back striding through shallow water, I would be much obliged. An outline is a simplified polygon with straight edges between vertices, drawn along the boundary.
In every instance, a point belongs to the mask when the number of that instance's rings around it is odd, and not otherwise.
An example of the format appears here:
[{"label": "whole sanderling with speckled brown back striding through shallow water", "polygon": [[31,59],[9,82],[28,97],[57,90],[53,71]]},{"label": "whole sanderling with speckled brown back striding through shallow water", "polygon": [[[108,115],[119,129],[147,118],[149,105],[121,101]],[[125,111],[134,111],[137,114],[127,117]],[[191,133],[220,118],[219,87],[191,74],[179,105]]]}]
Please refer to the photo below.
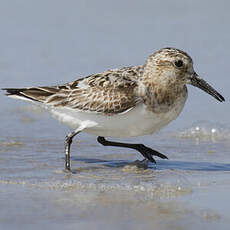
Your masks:
[{"label": "whole sanderling with speckled brown back striding through shallow water", "polygon": [[182,111],[186,84],[224,101],[193,69],[192,58],[175,48],[163,48],[140,66],[112,69],[73,82],[45,87],[5,88],[6,95],[33,101],[48,109],[74,131],[65,139],[65,169],[70,171],[73,137],[84,131],[104,146],[135,149],[144,160],[167,158],[143,144],[107,141],[104,137],[134,137],[155,133]]}]

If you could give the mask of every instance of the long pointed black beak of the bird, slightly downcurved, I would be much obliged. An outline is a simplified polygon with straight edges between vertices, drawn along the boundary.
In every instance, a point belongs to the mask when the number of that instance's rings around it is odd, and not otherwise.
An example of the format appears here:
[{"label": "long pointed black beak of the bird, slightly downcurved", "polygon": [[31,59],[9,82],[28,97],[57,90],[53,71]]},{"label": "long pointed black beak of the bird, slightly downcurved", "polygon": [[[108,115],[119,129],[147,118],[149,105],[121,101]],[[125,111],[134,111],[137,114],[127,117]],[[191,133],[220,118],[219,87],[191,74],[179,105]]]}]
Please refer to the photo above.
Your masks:
[{"label": "long pointed black beak of the bird, slightly downcurved", "polygon": [[222,95],[220,95],[215,89],[212,88],[212,86],[210,86],[205,80],[200,78],[196,73],[194,73],[192,75],[189,83],[195,87],[198,87],[198,88],[204,90],[206,93],[215,97],[218,101],[220,101],[220,102],[225,101],[225,99]]}]

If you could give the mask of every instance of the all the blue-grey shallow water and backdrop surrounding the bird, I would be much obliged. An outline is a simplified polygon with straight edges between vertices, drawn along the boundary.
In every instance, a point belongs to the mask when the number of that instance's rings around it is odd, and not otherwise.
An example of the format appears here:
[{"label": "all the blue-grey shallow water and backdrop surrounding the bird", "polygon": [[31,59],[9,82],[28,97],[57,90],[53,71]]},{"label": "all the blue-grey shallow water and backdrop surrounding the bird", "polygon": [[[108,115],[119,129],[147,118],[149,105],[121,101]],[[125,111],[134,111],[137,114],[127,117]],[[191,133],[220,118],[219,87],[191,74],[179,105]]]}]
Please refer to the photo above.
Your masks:
[{"label": "all the blue-grey shallow water and backdrop surrounding the bird", "polygon": [[75,173],[67,174],[63,142],[71,129],[0,95],[0,229],[229,229],[229,2],[0,4],[1,87],[64,83],[175,46],[226,98],[221,104],[189,87],[182,114],[167,128],[120,140],[169,160],[141,164],[135,151],[80,134]]}]

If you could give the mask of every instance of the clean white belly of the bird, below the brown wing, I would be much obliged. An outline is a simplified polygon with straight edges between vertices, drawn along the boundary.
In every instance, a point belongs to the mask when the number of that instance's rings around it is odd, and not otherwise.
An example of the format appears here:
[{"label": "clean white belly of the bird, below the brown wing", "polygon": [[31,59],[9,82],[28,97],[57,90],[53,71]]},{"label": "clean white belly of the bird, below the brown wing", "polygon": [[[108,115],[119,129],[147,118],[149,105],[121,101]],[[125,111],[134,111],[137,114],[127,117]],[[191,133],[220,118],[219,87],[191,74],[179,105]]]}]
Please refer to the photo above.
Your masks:
[{"label": "clean white belly of the bird, below the brown wing", "polygon": [[52,108],[51,113],[59,121],[79,131],[106,137],[134,137],[152,134],[176,119],[185,100],[178,101],[169,112],[161,114],[147,111],[142,103],[125,113],[112,116],[68,108]]}]

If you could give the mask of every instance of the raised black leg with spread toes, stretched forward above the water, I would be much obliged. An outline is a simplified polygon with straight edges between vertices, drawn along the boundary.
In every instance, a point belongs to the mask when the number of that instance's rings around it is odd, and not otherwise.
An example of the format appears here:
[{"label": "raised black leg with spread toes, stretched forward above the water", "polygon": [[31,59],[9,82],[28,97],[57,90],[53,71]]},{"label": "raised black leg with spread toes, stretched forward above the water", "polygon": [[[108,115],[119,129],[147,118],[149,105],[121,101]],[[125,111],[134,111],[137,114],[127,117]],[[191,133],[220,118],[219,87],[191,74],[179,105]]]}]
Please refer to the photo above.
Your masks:
[{"label": "raised black leg with spread toes, stretched forward above the water", "polygon": [[153,159],[152,156],[157,156],[162,159],[168,159],[167,156],[163,155],[162,153],[157,152],[156,150],[146,147],[143,144],[129,144],[129,143],[107,141],[104,137],[98,137],[97,141],[104,146],[115,146],[115,147],[135,149],[138,152],[140,152],[145,159],[148,159],[153,163],[156,163],[156,161]]}]

